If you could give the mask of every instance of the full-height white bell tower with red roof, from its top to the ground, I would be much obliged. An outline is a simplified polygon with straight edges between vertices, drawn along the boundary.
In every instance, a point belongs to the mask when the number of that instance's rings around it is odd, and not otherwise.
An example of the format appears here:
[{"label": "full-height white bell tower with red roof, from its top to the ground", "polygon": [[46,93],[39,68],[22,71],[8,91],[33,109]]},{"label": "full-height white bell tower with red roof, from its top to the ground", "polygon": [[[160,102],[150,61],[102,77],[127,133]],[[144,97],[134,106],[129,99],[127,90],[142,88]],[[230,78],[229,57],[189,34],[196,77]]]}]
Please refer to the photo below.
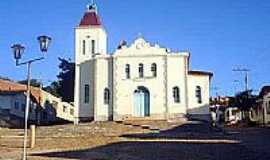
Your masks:
[{"label": "full-height white bell tower with red roof, from its top to the ground", "polygon": [[74,122],[93,117],[96,57],[107,55],[107,34],[92,2],[75,28]]}]

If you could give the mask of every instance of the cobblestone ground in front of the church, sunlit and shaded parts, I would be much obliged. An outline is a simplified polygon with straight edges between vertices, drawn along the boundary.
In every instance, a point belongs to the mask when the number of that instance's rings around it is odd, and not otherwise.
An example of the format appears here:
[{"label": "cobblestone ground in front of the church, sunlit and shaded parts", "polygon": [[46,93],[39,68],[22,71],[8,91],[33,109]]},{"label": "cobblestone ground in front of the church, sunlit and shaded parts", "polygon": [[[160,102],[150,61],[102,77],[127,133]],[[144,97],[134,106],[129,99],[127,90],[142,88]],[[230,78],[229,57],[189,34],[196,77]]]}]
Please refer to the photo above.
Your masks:
[{"label": "cobblestone ground in front of the church, sunlit and shaded parts", "polygon": [[[0,129],[0,159],[20,159],[22,130]],[[201,122],[104,122],[37,129],[29,160],[269,160],[270,129]]]}]

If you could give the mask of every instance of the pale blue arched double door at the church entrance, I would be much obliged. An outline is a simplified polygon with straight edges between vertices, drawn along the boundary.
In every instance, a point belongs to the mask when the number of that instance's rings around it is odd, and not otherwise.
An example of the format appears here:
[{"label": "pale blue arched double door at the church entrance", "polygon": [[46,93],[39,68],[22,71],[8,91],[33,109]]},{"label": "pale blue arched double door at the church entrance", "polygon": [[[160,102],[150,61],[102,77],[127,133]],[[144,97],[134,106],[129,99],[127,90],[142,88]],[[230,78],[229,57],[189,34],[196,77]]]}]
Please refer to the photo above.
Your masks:
[{"label": "pale blue arched double door at the church entrance", "polygon": [[145,87],[138,87],[138,89],[134,91],[133,116],[150,116],[150,94]]}]

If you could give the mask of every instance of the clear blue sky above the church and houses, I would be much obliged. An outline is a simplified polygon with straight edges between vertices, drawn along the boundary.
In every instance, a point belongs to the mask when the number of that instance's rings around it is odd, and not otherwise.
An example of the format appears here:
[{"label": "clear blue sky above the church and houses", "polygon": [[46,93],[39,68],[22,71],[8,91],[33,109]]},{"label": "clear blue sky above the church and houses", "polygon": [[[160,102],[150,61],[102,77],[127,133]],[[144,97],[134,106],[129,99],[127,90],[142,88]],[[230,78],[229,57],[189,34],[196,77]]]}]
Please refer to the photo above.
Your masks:
[{"label": "clear blue sky above the church and houses", "polygon": [[[25,44],[24,58],[39,56],[36,37],[53,38],[48,58],[34,64],[33,77],[55,80],[57,57],[74,57],[74,27],[90,0],[8,0],[0,2],[0,75],[14,80],[26,77],[15,67],[11,44]],[[269,0],[97,0],[108,33],[110,53],[120,40],[131,43],[139,33],[172,50],[189,50],[192,69],[214,72],[212,87],[219,94],[244,88],[247,67],[250,87],[270,84]],[[233,83],[239,80],[239,83]]]}]

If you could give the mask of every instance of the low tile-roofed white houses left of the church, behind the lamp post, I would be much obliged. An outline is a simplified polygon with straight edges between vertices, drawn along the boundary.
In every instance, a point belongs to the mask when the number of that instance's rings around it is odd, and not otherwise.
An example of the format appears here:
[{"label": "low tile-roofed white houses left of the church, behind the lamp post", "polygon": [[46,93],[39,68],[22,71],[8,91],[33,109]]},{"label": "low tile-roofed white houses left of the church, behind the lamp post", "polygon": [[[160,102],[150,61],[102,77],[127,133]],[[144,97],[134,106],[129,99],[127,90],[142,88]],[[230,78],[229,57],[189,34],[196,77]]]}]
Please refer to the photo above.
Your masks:
[{"label": "low tile-roofed white houses left of the church, behind the lamp post", "polygon": [[[36,87],[31,87],[29,121],[53,124],[74,120],[74,106],[61,98]],[[26,108],[26,85],[0,79],[0,119],[16,125],[23,124]]]}]

